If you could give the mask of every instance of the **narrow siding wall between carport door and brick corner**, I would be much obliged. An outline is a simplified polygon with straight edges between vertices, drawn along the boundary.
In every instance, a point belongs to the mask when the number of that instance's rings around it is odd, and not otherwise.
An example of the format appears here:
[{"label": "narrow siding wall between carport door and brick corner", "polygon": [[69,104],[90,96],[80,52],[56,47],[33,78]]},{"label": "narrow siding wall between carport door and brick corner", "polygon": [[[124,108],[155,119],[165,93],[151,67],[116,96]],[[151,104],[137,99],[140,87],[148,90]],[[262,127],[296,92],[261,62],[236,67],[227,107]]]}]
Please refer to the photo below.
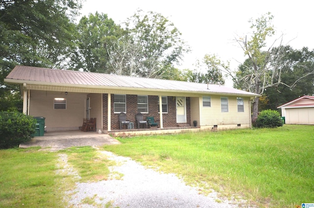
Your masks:
[{"label": "narrow siding wall between carport door and brick corner", "polygon": [[88,98],[90,98],[90,117],[96,118],[96,130],[103,130],[103,117],[102,117],[102,94],[88,94]]}]

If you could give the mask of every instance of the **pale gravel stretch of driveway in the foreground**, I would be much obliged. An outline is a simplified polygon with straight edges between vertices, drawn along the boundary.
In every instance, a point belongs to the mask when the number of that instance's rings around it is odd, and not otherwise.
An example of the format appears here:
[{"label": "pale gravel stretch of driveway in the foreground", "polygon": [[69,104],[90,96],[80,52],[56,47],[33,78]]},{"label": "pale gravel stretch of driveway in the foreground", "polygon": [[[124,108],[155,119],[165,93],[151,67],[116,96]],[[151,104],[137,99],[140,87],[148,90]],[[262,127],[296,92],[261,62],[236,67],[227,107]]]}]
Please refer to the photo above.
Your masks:
[{"label": "pale gravel stretch of driveway in the foreground", "polygon": [[[174,174],[162,174],[146,169],[128,157],[115,156],[101,151],[108,159],[117,162],[111,173],[122,173],[122,178],[100,182],[77,183],[69,205],[74,208],[94,208],[82,203],[91,198],[96,206],[113,208],[237,208],[228,201],[216,202],[216,193],[199,194],[196,188],[184,184]],[[64,156],[63,156],[64,157]],[[63,158],[65,160],[66,158]],[[66,161],[65,161],[66,162]]]}]

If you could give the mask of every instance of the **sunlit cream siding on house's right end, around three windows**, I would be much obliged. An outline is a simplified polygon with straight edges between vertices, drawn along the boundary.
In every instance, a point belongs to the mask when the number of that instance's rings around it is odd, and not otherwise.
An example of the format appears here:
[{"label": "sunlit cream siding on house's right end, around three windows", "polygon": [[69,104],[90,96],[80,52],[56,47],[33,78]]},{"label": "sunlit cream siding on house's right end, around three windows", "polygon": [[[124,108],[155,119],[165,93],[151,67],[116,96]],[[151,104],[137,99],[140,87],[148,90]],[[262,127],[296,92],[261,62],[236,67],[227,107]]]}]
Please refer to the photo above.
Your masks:
[{"label": "sunlit cream siding on house's right end, around three windows", "polygon": [[[250,124],[249,98],[243,98],[244,112],[237,112],[236,97],[228,97],[228,112],[221,112],[221,96],[210,96],[210,98],[211,107],[200,105],[201,126],[218,125],[219,128],[219,125]],[[200,97],[201,104],[203,102],[202,99]]]}]

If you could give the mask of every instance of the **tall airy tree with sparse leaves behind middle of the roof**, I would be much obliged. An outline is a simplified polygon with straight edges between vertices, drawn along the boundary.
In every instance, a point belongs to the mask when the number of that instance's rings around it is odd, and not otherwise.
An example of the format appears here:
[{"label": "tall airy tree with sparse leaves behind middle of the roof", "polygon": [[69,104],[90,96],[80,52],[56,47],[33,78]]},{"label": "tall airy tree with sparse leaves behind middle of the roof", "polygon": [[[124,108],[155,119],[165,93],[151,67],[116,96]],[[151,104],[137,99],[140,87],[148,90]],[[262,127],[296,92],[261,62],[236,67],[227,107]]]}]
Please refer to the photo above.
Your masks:
[{"label": "tall airy tree with sparse leaves behind middle of the roof", "polygon": [[142,65],[136,72],[140,77],[161,78],[165,67],[180,63],[189,52],[180,31],[159,13],[138,10],[125,25],[132,43],[141,47]]}]

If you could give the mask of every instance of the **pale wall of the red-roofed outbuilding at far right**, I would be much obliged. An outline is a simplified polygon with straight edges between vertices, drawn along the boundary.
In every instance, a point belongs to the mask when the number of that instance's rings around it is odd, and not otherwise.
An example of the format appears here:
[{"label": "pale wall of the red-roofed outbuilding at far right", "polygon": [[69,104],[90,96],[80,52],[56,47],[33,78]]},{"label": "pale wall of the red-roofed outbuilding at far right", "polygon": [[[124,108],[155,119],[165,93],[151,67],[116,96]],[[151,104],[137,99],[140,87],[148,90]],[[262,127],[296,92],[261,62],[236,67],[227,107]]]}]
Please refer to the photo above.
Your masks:
[{"label": "pale wall of the red-roofed outbuilding at far right", "polygon": [[314,124],[314,107],[286,108],[286,124]]}]

